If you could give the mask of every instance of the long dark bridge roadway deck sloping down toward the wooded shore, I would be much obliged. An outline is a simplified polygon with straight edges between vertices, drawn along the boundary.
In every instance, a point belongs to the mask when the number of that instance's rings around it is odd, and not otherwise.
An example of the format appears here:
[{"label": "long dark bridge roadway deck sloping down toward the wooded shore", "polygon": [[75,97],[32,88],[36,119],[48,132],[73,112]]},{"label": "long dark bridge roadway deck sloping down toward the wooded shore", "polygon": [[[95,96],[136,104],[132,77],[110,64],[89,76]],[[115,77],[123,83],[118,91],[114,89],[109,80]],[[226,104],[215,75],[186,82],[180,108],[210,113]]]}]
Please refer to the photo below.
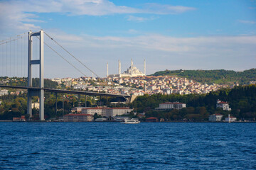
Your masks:
[{"label": "long dark bridge roadway deck sloping down toward the wooded shore", "polygon": [[[6,86],[6,85],[0,85],[1,88],[12,88],[12,89],[31,89],[31,90],[41,90],[39,87],[28,87],[28,86]],[[43,91],[46,92],[54,92],[54,93],[62,93],[62,94],[82,94],[82,95],[88,95],[88,96],[109,96],[109,97],[124,97],[129,98],[129,95],[122,95],[122,94],[104,94],[104,93],[95,93],[90,91],[71,91],[71,90],[62,90],[62,89],[48,89],[48,88],[42,88]]]}]

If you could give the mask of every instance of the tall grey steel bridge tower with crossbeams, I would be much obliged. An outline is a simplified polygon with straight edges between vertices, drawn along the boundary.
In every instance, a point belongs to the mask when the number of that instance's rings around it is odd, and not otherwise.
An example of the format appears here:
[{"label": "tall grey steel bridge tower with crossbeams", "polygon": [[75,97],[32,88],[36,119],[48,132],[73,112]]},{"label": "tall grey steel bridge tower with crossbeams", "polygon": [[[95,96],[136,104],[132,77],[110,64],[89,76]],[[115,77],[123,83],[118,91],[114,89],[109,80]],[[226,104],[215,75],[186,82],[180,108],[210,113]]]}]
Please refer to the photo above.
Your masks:
[{"label": "tall grey steel bridge tower with crossbeams", "polygon": [[[39,60],[32,59],[32,47],[33,47],[33,36],[38,36],[40,43],[39,43]],[[39,79],[40,79],[40,88],[39,89],[29,89],[32,87],[32,65],[39,64]],[[39,97],[39,118],[40,120],[44,119],[44,91],[43,91],[43,30],[39,32],[32,33],[31,31],[28,32],[28,111],[27,113],[32,117],[32,96]]]}]

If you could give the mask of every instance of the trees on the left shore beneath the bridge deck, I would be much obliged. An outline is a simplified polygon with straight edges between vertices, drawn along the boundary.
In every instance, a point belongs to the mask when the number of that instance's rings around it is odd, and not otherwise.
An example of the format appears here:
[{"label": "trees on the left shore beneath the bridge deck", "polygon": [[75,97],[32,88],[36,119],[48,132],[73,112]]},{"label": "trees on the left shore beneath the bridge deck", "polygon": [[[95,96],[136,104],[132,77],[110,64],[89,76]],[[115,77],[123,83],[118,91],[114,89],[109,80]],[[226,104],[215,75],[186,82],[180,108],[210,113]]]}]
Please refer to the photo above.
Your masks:
[{"label": "trees on the left shore beneath the bridge deck", "polygon": [[[57,113],[55,112],[56,97],[55,94],[45,93],[45,118],[56,118],[63,115],[63,96],[58,94],[57,96]],[[0,120],[12,120],[14,117],[20,117],[27,114],[27,94],[16,95],[4,95],[0,96]],[[32,103],[38,102],[38,97],[33,97]],[[87,98],[87,106],[92,106],[95,103],[93,98]],[[65,95],[64,98],[64,114],[68,114],[71,108],[78,106],[78,96]],[[80,98],[80,106],[85,106],[85,98]],[[33,119],[38,120],[39,111],[33,109]]]}]

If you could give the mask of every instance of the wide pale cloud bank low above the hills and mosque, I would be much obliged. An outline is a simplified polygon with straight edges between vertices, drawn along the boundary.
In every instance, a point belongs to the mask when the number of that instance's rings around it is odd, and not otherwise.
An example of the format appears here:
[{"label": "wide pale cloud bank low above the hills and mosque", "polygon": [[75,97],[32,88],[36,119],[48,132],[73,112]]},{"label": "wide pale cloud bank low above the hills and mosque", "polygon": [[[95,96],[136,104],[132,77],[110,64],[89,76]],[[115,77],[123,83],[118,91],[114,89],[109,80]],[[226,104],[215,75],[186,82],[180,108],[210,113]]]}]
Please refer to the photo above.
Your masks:
[{"label": "wide pale cloud bank low above the hills and mosque", "polygon": [[[50,34],[55,38],[58,31]],[[149,74],[164,69],[243,70],[255,67],[256,64],[256,36],[175,38],[164,35],[134,37],[60,35],[55,40],[100,76],[105,75],[106,62],[110,64],[110,72],[116,73],[117,60],[122,61],[122,70],[124,70],[129,67],[130,58],[133,58],[134,64],[139,69],[143,68],[143,60],[146,59],[148,66],[154,66],[147,68]],[[73,40],[75,38],[77,42]],[[60,65],[67,70],[68,67]],[[67,72],[73,74],[73,71]],[[90,73],[86,74],[90,75]]]}]

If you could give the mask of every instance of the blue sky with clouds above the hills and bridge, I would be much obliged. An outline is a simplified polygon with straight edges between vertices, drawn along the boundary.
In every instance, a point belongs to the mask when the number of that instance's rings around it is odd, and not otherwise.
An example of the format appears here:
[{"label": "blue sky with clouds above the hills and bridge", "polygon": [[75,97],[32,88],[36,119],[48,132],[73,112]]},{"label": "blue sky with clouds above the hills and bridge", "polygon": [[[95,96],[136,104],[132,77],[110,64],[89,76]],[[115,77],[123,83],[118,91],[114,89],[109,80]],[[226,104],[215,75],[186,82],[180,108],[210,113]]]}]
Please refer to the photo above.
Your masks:
[{"label": "blue sky with clouds above the hills and bridge", "polygon": [[[146,74],[256,67],[255,0],[0,1],[0,40],[41,29],[100,77],[107,62],[117,74],[118,60],[124,72],[131,59],[142,72],[146,60]],[[45,50],[45,77],[82,76]]]}]

